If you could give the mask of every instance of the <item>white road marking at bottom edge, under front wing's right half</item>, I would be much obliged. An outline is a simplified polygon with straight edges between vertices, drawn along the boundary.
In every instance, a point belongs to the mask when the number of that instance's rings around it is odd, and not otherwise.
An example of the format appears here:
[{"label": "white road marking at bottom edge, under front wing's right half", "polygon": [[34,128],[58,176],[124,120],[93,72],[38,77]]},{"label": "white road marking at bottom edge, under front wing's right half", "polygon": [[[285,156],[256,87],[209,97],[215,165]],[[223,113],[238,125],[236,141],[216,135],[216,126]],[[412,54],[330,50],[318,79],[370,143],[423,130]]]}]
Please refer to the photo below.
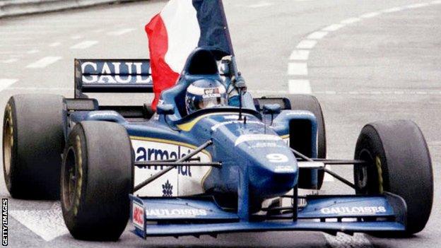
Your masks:
[{"label": "white road marking at bottom edge, under front wing's right half", "polygon": [[362,233],[354,233],[353,236],[346,235],[344,233],[337,233],[336,236],[329,235],[324,233],[324,237],[326,238],[328,244],[331,247],[340,248],[340,247],[373,247],[372,244],[367,240],[367,237]]}]

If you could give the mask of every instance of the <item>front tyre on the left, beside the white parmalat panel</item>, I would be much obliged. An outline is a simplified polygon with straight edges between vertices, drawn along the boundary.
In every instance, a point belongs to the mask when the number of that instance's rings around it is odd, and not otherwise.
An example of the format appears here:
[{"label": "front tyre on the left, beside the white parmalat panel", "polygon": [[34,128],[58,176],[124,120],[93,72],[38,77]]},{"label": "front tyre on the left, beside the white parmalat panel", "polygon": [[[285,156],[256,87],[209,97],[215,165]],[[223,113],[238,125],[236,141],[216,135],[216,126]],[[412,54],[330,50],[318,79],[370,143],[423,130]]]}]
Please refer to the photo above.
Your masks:
[{"label": "front tyre on the left, beside the white parmalat panel", "polygon": [[124,126],[76,124],[61,168],[61,209],[71,235],[78,240],[118,240],[129,220],[133,187],[131,141]]}]

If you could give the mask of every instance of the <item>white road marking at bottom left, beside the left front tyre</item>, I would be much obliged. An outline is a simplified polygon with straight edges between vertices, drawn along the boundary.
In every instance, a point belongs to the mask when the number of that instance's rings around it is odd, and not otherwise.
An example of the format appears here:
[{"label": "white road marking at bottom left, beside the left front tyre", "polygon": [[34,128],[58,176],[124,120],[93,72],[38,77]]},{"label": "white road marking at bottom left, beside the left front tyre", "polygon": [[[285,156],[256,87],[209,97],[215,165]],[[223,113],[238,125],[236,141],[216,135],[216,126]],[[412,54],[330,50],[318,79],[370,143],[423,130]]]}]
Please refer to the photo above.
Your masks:
[{"label": "white road marking at bottom left, beside the left front tyre", "polygon": [[45,241],[69,233],[64,224],[60,203],[54,203],[48,210],[13,210],[11,216]]}]

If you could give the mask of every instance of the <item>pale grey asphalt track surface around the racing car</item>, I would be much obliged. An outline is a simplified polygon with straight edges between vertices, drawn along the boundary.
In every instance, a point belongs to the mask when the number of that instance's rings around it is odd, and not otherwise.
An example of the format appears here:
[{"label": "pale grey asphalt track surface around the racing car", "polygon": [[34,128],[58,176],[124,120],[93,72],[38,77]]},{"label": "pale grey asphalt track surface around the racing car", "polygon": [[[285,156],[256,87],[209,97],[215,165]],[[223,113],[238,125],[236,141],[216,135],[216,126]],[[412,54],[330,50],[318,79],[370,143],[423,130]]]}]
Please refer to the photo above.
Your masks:
[{"label": "pale grey asphalt track surface around the racing car", "polygon": [[[164,4],[148,1],[0,20],[0,107],[18,93],[71,97],[73,58],[148,57],[143,25]],[[393,8],[396,6],[403,8]],[[293,93],[311,89],[324,109],[329,158],[351,158],[358,133],[368,122],[412,119],[421,126],[435,177],[435,202],[425,230],[410,239],[264,232],[145,241],[132,235],[128,226],[119,242],[81,242],[66,233],[57,203],[9,199],[11,247],[439,246],[440,1],[225,0],[225,8],[249,89],[256,95],[288,93],[288,88]],[[343,26],[333,25],[342,20]],[[305,45],[303,40],[317,44]],[[308,51],[309,57],[290,59],[298,49]],[[294,65],[288,66],[290,63]],[[134,99],[104,95],[99,99],[112,104],[148,101],[144,95]],[[351,178],[351,168],[333,170]],[[3,176],[1,181],[1,197],[9,198]],[[351,193],[338,182],[327,182],[325,191]]]}]

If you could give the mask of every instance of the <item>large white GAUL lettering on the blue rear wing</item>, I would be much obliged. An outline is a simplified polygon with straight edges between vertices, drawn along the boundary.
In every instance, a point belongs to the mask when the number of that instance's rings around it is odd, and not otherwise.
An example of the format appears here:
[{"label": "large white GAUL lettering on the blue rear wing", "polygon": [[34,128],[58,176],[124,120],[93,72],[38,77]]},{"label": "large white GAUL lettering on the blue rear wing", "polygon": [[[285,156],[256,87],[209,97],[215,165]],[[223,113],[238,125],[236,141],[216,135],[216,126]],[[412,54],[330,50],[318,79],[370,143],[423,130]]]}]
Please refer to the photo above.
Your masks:
[{"label": "large white GAUL lettering on the blue rear wing", "polygon": [[[148,76],[149,66],[141,62],[104,62],[86,61],[81,64],[83,83],[151,83]],[[124,74],[121,75],[121,74]]]}]

